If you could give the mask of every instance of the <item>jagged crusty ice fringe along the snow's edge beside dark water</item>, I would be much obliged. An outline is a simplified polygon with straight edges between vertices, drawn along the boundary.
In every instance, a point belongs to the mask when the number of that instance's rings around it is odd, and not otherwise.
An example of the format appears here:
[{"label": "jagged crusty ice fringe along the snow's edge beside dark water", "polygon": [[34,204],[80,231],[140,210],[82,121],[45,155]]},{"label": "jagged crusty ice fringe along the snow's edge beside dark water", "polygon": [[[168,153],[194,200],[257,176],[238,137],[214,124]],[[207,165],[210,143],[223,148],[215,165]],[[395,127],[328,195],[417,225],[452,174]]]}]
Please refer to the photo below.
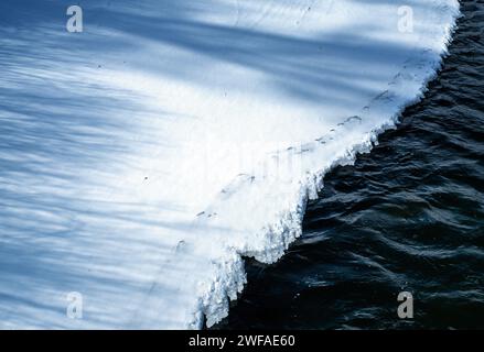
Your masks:
[{"label": "jagged crusty ice fringe along the snow's edge beside dark water", "polygon": [[[459,2],[458,2],[459,3]],[[398,125],[402,111],[419,102],[426,91],[428,84],[435,79],[442,68],[443,58],[449,54],[449,45],[452,42],[453,33],[456,30],[456,19],[461,16],[459,10],[453,13],[453,24],[445,29],[444,45],[440,53],[439,61],[434,62],[432,74],[426,79],[417,97],[401,107],[400,111],[383,123],[379,128],[373,130],[369,138],[364,142],[352,146],[346,151],[343,157],[337,158],[331,167],[326,167],[318,173],[306,177],[305,182],[300,184],[299,202],[292,208],[281,212],[282,216],[275,223],[268,223],[265,227],[261,237],[267,246],[263,250],[236,250],[233,249],[222,263],[216,266],[216,275],[212,284],[198,298],[198,310],[193,312],[193,319],[189,323],[189,329],[202,329],[204,321],[206,326],[212,327],[228,316],[229,301],[237,299],[237,295],[244,289],[247,283],[247,275],[244,267],[244,257],[254,257],[259,262],[271,264],[282,257],[289,245],[294,242],[302,233],[302,219],[309,199],[316,199],[318,193],[323,188],[324,175],[336,166],[354,164],[358,153],[368,153],[373,146],[378,143],[378,135],[389,129]]]}]

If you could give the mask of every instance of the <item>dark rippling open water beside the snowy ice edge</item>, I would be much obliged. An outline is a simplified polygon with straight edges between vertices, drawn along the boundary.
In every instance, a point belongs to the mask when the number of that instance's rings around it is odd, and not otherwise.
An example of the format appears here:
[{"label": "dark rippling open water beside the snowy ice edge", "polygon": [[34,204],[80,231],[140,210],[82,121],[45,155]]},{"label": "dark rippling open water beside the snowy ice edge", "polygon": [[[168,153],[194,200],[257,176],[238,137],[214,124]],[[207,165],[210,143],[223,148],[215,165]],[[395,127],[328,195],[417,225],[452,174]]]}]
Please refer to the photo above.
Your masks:
[{"label": "dark rippling open water beside the snowy ice edge", "polygon": [[462,11],[423,101],[326,176],[303,238],[276,265],[247,264],[216,328],[484,328],[484,1]]}]

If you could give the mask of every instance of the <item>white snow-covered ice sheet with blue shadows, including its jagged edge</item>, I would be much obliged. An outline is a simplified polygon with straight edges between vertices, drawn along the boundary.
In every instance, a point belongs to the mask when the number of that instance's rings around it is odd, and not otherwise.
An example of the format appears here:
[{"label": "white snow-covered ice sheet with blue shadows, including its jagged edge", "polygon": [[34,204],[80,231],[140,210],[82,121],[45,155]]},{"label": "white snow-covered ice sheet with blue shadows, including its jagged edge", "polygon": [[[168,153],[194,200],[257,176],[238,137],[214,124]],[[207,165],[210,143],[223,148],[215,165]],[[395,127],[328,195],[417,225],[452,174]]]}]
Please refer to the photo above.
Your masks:
[{"label": "white snow-covered ice sheet with blue shadows, including its jagged edge", "polygon": [[0,6],[2,329],[226,317],[244,257],[273,263],[301,235],[324,174],[422,96],[459,15],[455,0],[78,3],[83,33],[65,2]]}]

